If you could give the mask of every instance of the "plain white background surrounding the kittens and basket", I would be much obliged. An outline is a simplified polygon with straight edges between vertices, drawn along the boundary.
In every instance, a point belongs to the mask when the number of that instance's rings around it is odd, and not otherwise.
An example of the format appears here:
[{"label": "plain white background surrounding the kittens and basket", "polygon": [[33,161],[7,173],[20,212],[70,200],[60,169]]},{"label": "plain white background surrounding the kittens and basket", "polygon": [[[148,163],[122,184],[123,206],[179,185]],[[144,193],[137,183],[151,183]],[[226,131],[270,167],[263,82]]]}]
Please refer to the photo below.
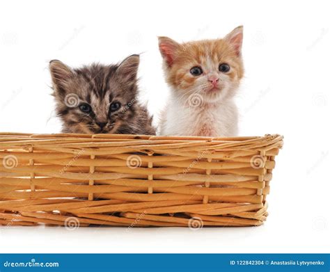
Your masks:
[{"label": "plain white background surrounding the kittens and basket", "polygon": [[116,63],[144,52],[152,113],[167,95],[157,35],[222,37],[244,24],[240,135],[283,134],[261,227],[2,227],[2,253],[329,253],[327,1],[3,1],[0,131],[56,133],[48,62]]}]

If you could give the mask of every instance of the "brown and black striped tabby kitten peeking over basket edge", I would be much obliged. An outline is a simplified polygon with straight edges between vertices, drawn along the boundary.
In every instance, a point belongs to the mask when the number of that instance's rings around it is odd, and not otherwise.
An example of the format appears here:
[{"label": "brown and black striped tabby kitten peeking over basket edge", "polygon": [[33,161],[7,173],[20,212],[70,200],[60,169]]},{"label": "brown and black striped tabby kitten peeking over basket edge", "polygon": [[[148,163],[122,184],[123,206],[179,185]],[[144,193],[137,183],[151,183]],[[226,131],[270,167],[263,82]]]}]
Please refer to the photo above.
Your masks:
[{"label": "brown and black striped tabby kitten peeking over basket edge", "polygon": [[155,135],[152,118],[137,102],[139,56],[119,65],[92,64],[71,69],[51,61],[56,113],[63,133]]}]

